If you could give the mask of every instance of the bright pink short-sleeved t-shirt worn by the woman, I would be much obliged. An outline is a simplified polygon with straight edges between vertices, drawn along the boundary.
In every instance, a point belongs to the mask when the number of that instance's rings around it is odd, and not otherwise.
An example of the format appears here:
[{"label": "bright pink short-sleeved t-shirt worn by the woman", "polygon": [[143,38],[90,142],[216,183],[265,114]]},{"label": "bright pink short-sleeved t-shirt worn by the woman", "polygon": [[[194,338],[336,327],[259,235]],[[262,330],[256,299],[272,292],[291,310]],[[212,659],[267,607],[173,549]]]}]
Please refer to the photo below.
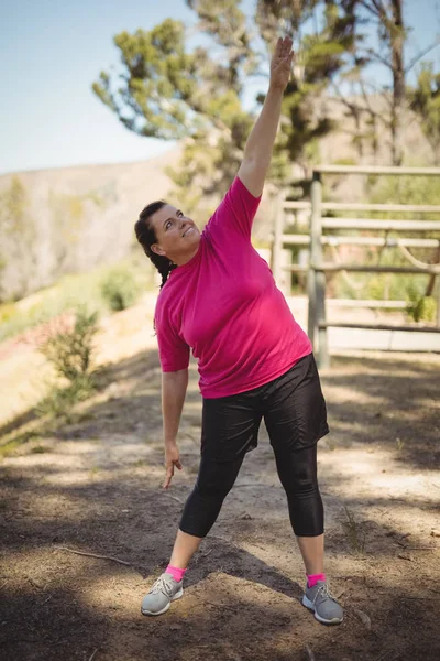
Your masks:
[{"label": "bright pink short-sleeved t-shirt worn by the woman", "polygon": [[263,386],[311,353],[271,269],[252,247],[258,204],[235,177],[197,253],[170,272],[157,299],[162,370],[188,367],[191,348],[208,399]]}]

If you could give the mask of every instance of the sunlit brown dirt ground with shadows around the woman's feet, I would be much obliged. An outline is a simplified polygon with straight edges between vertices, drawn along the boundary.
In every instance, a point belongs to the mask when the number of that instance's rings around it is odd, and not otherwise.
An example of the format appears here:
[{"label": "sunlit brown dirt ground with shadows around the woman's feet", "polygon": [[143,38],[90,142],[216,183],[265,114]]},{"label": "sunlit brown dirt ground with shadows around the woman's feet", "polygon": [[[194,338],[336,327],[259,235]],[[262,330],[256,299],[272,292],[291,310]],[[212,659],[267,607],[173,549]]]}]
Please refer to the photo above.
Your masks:
[{"label": "sunlit brown dirt ground with shadows around the woman's feet", "polygon": [[[1,659],[439,659],[440,356],[340,355],[321,372],[326,568],[342,625],[324,627],[300,605],[304,568],[264,426],[184,598],[146,618],[141,599],[166,565],[197,475],[201,410],[191,366],[184,470],[165,492],[150,323],[142,306],[105,321],[97,394],[0,463]],[[3,351],[4,438],[35,424],[45,371],[29,344]]]}]

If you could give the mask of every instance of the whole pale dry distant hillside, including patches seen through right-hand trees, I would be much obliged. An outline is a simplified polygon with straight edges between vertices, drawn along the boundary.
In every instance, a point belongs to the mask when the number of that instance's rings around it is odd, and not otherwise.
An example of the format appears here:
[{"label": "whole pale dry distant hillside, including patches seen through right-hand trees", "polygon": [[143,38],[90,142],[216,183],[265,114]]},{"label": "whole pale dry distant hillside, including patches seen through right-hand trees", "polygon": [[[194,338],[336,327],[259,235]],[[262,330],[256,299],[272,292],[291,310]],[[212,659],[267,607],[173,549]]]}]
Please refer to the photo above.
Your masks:
[{"label": "whole pale dry distant hillside, including patches seen through right-hand trees", "polygon": [[[371,99],[377,112],[384,99]],[[330,109],[340,129],[320,141],[320,162],[389,164],[388,136],[381,133],[376,154],[365,144],[362,156],[353,145],[354,123],[332,98],[314,109]],[[414,165],[432,163],[432,153],[414,116],[405,119],[405,148]],[[130,251],[133,225],[153,199],[169,197],[164,173],[177,165],[182,147],[143,162],[84,165],[0,176],[0,300],[22,297],[55,282],[66,272],[86,271],[117,261]],[[293,177],[301,177],[293,166]],[[361,199],[361,177],[326,177],[327,193],[337,199]],[[254,238],[272,237],[276,205],[266,187],[254,226]],[[204,208],[217,201],[205,201]],[[207,218],[195,220],[204,225]]]}]

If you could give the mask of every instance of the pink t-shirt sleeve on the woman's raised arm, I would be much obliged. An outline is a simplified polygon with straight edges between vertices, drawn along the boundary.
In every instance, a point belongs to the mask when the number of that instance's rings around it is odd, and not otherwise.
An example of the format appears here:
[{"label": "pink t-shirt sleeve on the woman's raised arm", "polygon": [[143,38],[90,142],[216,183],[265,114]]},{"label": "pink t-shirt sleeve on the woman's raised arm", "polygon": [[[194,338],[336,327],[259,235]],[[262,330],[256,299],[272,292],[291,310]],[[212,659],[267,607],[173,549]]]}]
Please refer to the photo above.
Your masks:
[{"label": "pink t-shirt sleeve on the woman's raised arm", "polygon": [[250,239],[252,223],[260,202],[261,196],[254,197],[240,177],[235,176],[206,229],[212,235],[228,230]]}]

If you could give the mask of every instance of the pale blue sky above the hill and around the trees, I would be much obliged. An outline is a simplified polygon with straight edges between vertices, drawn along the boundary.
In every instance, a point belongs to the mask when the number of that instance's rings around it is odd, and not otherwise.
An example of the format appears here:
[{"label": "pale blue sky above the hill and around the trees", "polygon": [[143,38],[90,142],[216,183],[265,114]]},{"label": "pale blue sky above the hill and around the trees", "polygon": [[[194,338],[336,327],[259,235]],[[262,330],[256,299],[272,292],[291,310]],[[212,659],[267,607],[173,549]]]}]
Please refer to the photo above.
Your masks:
[{"label": "pale blue sky above the hill and around the trees", "polygon": [[[437,6],[406,0],[409,55],[440,32]],[[139,161],[170,149],[128,131],[91,91],[100,71],[118,64],[114,34],[167,17],[194,22],[184,0],[0,0],[0,174]],[[440,68],[440,47],[430,57]]]}]

